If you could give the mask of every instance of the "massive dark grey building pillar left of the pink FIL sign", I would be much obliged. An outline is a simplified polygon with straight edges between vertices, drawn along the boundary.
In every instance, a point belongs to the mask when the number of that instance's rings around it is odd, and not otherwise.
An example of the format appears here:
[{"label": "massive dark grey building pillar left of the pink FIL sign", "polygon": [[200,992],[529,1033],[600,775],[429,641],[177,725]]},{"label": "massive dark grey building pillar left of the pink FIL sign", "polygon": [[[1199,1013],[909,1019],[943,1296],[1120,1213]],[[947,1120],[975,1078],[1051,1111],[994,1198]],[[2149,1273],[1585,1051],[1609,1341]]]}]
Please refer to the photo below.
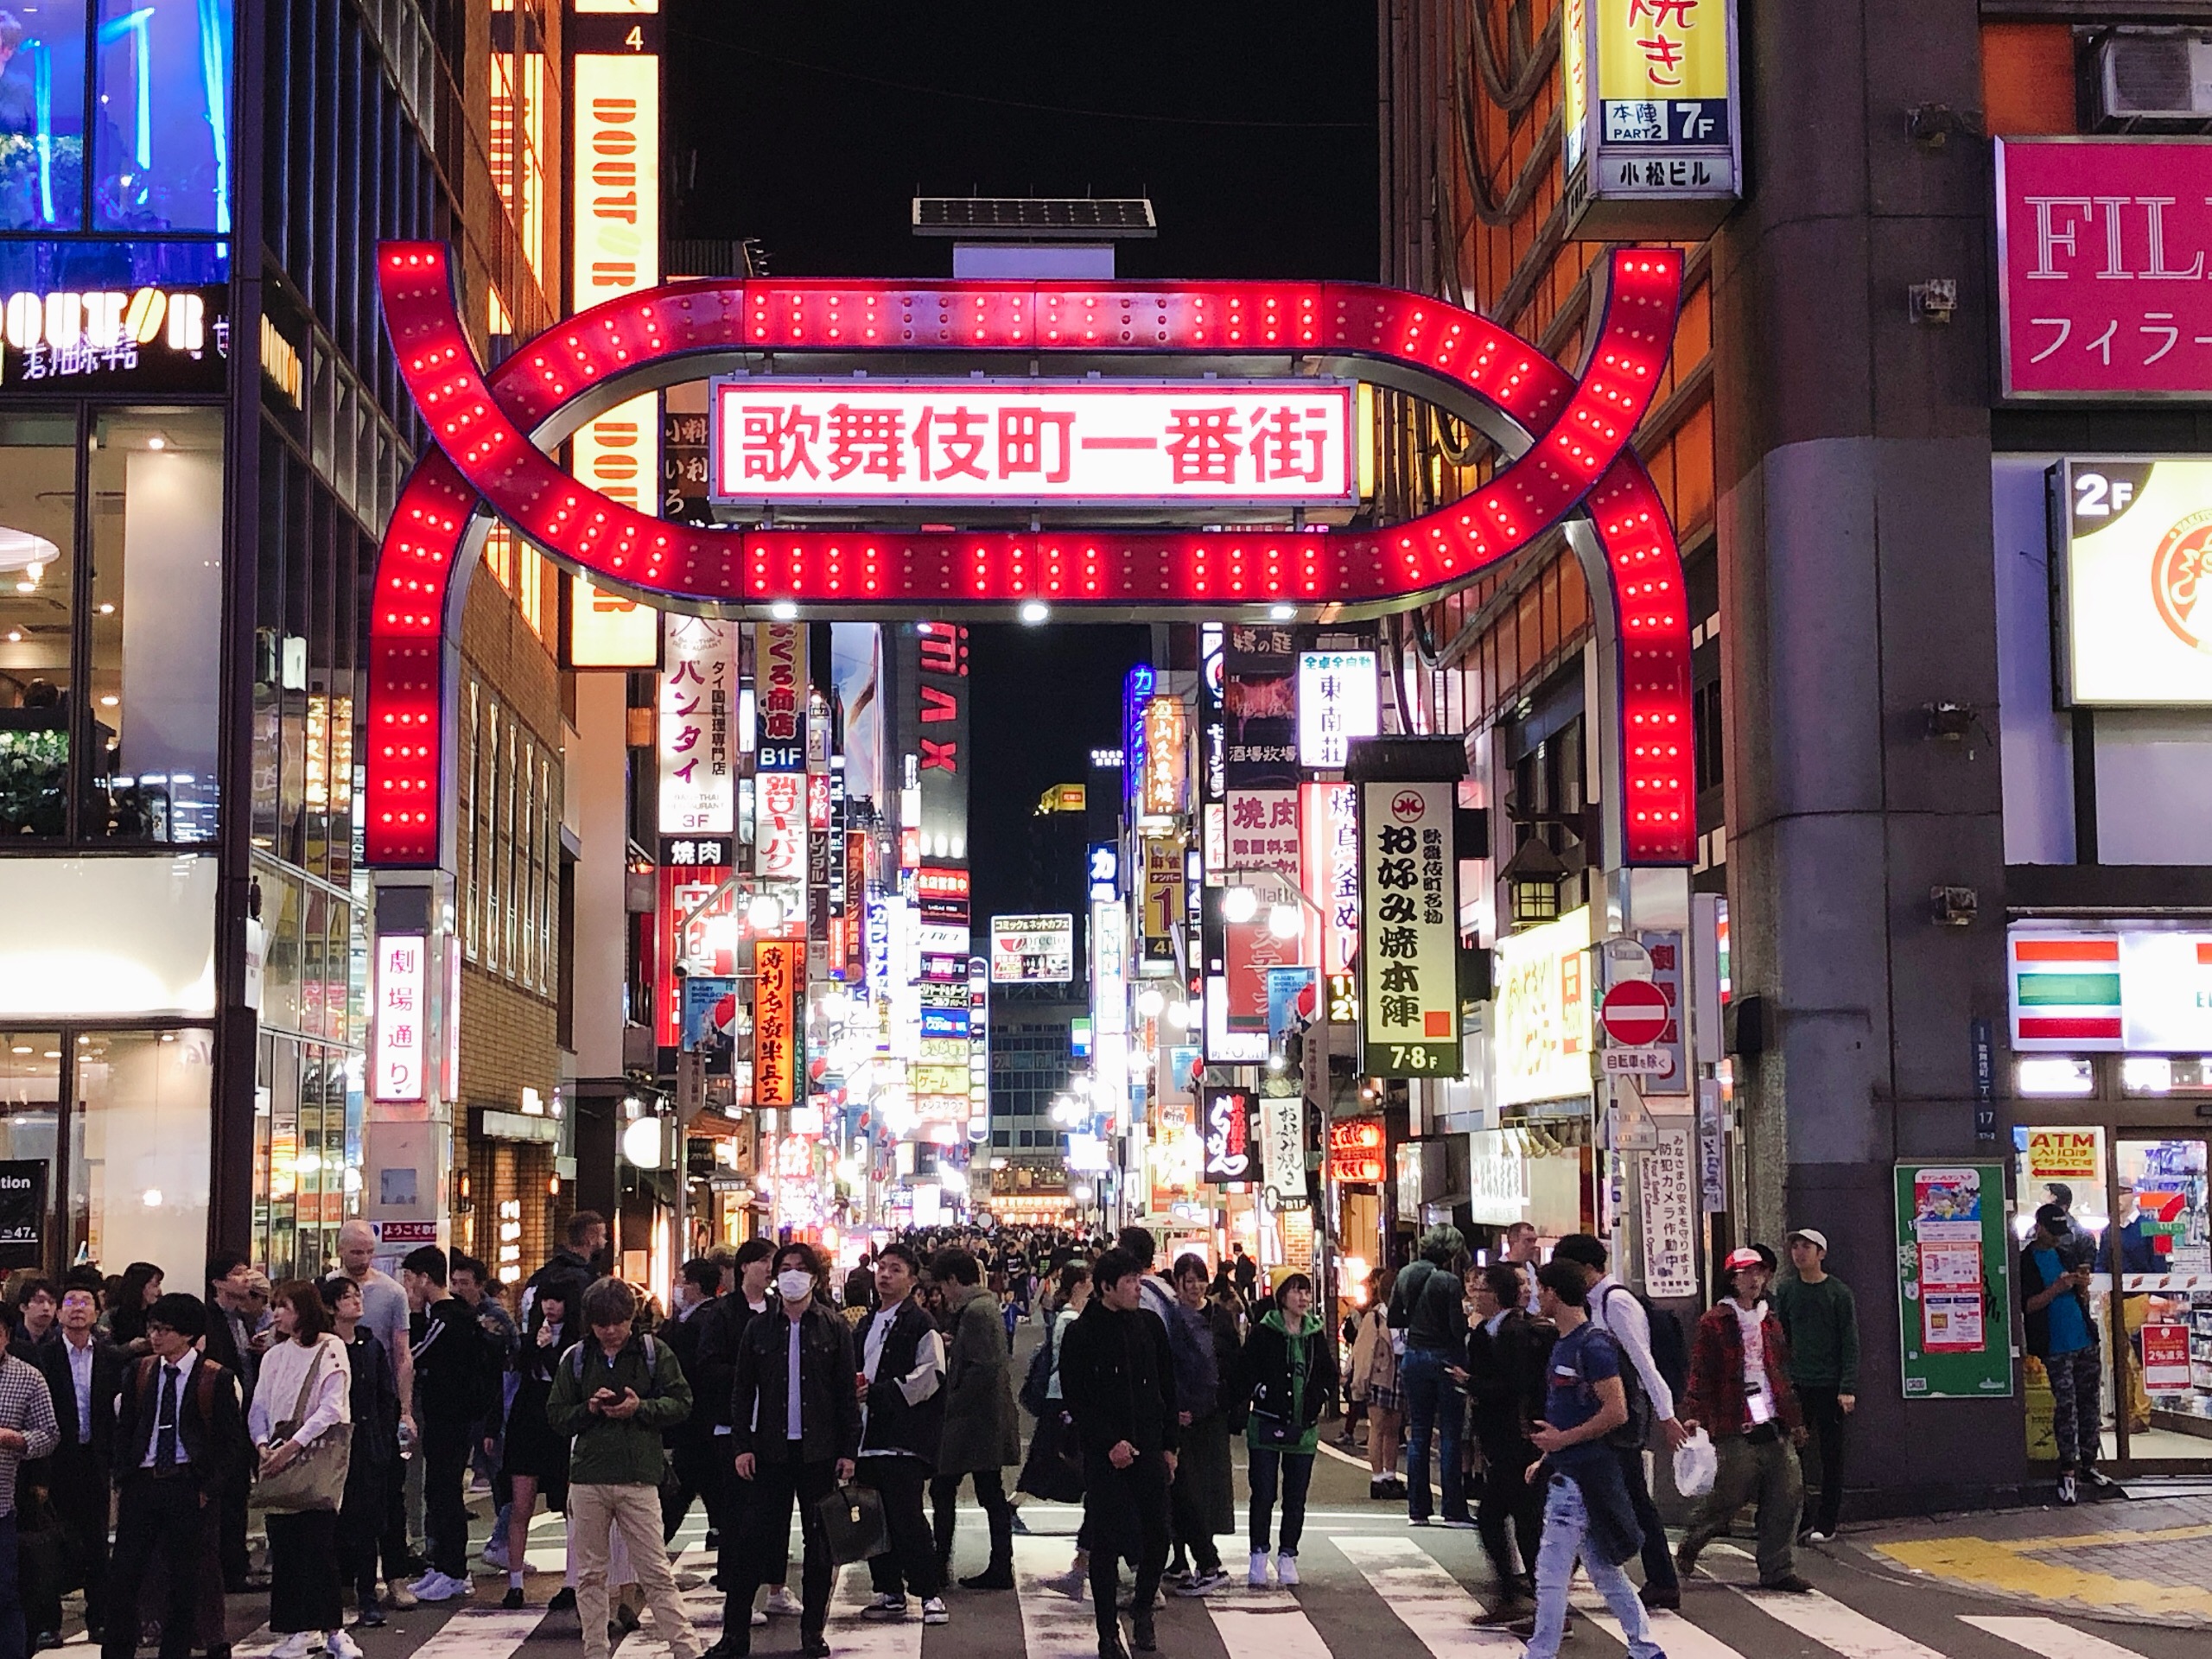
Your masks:
[{"label": "massive dark grey building pillar left of the pink FIL sign", "polygon": [[[1969,1020],[2004,1015],[1989,482],[1989,146],[1973,0],[1743,0],[1750,197],[1714,241],[1714,429],[1743,1230],[1832,1241],[1858,1294],[1854,1511],[1973,1506],[2024,1475],[2022,1409],[1907,1405],[1891,1164],[1973,1155]],[[1958,283],[1944,325],[1909,288]],[[1929,743],[1922,706],[1984,710]],[[1973,748],[1973,757],[1966,757]],[[1971,887],[1971,927],[1931,887]],[[1993,1146],[1982,1148],[1993,1155]]]}]

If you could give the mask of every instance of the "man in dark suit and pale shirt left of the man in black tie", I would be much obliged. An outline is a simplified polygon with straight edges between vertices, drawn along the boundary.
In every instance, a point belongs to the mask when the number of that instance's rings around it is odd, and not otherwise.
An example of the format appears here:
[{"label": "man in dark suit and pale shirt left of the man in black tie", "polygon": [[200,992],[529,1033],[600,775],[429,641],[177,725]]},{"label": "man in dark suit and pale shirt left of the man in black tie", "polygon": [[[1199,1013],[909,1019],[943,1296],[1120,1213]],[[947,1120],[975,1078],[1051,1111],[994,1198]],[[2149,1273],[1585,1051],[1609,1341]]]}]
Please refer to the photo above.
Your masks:
[{"label": "man in dark suit and pale shirt left of the man in black tie", "polygon": [[[62,1444],[46,1462],[46,1495],[69,1540],[69,1553],[84,1568],[84,1630],[93,1641],[100,1641],[106,1613],[115,1396],[122,1391],[128,1365],[124,1352],[93,1329],[97,1321],[100,1296],[88,1285],[69,1285],[55,1321],[58,1336],[33,1356],[46,1376],[53,1420],[62,1431]],[[29,1613],[35,1646],[60,1646],[60,1601],[31,1606]]]}]

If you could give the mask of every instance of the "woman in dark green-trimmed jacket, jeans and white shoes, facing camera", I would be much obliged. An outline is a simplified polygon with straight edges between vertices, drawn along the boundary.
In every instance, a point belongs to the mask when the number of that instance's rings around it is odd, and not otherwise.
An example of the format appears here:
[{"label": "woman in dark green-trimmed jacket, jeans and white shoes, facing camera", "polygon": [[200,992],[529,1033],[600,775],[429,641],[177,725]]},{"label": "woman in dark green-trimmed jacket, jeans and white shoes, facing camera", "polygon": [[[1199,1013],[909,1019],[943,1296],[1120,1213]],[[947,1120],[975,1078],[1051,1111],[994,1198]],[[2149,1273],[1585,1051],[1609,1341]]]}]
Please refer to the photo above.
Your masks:
[{"label": "woman in dark green-trimmed jacket, jeans and white shoes, facing camera", "polygon": [[1250,1416],[1245,1449],[1252,1475],[1252,1571],[1254,1590],[1267,1588],[1267,1528],[1274,1522],[1276,1486],[1283,1493],[1281,1548],[1274,1582],[1298,1582],[1298,1535],[1305,1531],[1305,1489],[1314,1480],[1314,1442],[1321,1409],[1336,1398],[1336,1343],[1314,1312],[1314,1281],[1290,1274],[1243,1349]]}]

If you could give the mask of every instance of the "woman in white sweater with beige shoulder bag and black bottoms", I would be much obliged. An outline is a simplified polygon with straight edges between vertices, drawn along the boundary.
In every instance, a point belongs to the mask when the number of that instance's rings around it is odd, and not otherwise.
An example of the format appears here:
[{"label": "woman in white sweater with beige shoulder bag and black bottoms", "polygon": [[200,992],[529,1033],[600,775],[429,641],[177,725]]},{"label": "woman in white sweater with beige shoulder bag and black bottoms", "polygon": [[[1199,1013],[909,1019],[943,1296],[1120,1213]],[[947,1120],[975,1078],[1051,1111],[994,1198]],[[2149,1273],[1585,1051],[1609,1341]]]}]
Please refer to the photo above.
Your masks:
[{"label": "woman in white sweater with beige shoulder bag and black bottoms", "polygon": [[283,1637],[270,1659],[305,1659],[325,1646],[338,1659],[358,1659],[338,1606],[338,1504],[354,1433],[354,1365],[332,1336],[330,1307],[312,1281],[279,1285],[270,1310],[276,1340],[261,1356],[246,1409],[259,1451],[254,1504],[268,1511],[270,1528],[270,1630]]}]

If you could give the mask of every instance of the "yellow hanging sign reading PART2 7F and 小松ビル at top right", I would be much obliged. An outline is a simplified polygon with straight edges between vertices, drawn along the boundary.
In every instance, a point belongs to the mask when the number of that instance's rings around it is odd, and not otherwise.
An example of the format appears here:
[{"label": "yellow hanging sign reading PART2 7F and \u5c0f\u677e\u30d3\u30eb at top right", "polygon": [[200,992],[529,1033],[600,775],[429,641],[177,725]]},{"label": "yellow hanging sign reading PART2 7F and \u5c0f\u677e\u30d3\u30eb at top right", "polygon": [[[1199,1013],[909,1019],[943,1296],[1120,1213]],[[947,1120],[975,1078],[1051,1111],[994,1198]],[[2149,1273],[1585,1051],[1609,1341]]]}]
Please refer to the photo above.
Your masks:
[{"label": "yellow hanging sign reading PART2 7F and \u5c0f\u677e\u30d3\u30eb at top right", "polygon": [[1743,173],[1734,0],[1566,0],[1568,234],[1712,230]]}]

